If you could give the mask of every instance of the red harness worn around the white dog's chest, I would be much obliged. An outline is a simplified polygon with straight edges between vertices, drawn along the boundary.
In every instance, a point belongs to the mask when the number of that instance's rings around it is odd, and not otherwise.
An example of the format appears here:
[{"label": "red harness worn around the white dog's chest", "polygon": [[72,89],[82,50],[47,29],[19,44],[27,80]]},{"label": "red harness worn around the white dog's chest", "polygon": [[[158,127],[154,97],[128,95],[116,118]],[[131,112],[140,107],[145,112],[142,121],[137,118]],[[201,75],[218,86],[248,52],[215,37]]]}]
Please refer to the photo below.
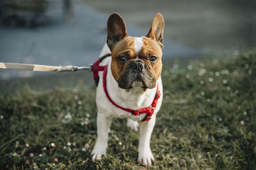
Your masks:
[{"label": "red harness worn around the white dog's chest", "polygon": [[107,90],[107,73],[108,73],[108,65],[106,66],[99,66],[100,62],[104,59],[106,59],[106,57],[111,56],[111,54],[107,54],[104,55],[103,57],[101,57],[99,60],[97,60],[91,67],[91,71],[93,71],[93,78],[95,80],[96,86],[98,86],[99,83],[99,71],[103,71],[103,88],[104,88],[104,92],[108,98],[108,100],[115,105],[117,108],[120,108],[121,110],[127,111],[129,113],[131,113],[134,116],[138,116],[142,113],[147,113],[147,115],[145,116],[145,118],[142,120],[142,122],[144,121],[149,121],[151,119],[151,116],[153,115],[155,109],[156,109],[156,104],[157,101],[159,99],[159,97],[161,96],[160,91],[158,90],[158,84],[157,84],[157,89],[156,89],[156,96],[154,97],[154,100],[151,104],[151,106],[147,107],[147,108],[141,108],[138,110],[131,110],[131,109],[127,109],[127,108],[123,108],[122,106],[119,106],[118,104],[116,104],[111,97],[108,94],[108,90]]}]

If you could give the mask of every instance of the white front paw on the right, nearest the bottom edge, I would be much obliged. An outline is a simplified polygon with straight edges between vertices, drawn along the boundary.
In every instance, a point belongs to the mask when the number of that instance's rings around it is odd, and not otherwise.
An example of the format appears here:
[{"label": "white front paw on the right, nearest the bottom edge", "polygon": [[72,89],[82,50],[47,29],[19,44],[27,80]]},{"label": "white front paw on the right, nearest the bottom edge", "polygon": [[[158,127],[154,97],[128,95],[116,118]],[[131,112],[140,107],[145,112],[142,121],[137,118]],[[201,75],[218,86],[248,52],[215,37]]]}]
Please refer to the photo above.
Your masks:
[{"label": "white front paw on the right, nearest the bottom edge", "polygon": [[154,156],[150,150],[150,148],[139,151],[138,162],[143,166],[151,166],[154,161]]}]

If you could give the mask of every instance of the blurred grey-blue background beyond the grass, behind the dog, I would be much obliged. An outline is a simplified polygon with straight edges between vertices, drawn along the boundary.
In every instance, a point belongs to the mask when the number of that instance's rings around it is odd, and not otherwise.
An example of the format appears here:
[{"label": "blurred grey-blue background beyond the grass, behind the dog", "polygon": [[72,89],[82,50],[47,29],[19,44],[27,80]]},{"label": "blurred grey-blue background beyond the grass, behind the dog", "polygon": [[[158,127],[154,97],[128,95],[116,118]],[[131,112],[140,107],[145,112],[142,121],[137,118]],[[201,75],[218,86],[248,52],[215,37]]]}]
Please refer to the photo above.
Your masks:
[{"label": "blurred grey-blue background beyond the grass, behind the dog", "polygon": [[[0,62],[87,66],[106,43],[106,22],[113,12],[122,15],[131,36],[147,34],[154,15],[162,13],[167,66],[256,46],[256,1],[1,0]],[[75,78],[93,83],[91,76],[0,70],[0,87],[13,80],[44,87]]]}]

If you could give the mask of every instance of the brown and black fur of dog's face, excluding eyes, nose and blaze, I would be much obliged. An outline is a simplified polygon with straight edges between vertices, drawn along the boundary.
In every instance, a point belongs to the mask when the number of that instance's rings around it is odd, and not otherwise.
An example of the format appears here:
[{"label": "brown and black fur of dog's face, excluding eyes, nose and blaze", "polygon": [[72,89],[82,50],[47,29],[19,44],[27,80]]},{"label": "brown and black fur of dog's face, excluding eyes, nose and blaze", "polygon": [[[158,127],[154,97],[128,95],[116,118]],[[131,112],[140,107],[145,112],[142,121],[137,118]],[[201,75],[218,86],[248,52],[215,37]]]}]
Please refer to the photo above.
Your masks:
[{"label": "brown and black fur of dog's face, excluding eyes, nose and blaze", "polygon": [[[131,88],[133,81],[142,81],[143,88],[156,87],[156,80],[161,75],[162,71],[162,50],[159,43],[150,38],[142,38],[143,46],[137,54],[134,48],[134,40],[131,36],[118,41],[112,48],[111,72],[113,77],[118,82],[119,87],[123,89]],[[124,56],[127,61],[120,63],[118,57]],[[150,62],[150,57],[156,56],[156,62]],[[141,73],[132,71],[134,62],[143,63],[144,69]],[[134,65],[134,64],[133,64]]]}]

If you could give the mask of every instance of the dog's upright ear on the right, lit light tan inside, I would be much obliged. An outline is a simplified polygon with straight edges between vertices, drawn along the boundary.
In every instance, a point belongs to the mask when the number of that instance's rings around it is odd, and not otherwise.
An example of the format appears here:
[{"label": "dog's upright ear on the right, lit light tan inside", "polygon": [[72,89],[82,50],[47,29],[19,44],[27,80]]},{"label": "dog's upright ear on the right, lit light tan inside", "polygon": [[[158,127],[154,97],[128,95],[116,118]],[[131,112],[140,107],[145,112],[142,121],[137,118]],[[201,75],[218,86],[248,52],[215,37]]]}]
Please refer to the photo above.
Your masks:
[{"label": "dog's upright ear on the right, lit light tan inside", "polygon": [[157,13],[146,37],[152,38],[158,41],[161,48],[163,48],[163,41],[164,41],[163,35],[164,35],[164,18],[161,15],[161,13]]}]

